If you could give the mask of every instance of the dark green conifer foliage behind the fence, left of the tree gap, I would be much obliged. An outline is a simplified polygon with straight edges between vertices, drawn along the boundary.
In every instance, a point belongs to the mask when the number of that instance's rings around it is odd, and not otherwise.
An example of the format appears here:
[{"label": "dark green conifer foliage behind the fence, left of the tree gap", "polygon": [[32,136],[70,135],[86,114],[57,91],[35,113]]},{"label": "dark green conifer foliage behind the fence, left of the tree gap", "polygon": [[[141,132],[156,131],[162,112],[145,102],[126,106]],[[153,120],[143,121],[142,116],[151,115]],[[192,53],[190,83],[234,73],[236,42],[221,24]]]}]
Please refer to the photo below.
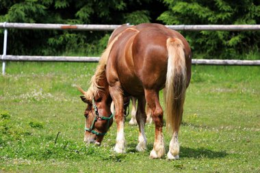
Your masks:
[{"label": "dark green conifer foliage behind the fence, left of the tree gap", "polygon": [[[0,22],[122,24],[155,21],[158,8],[151,0],[72,1],[72,0],[1,0]],[[144,10],[148,9],[148,10]],[[158,13],[158,12],[157,12]],[[99,55],[110,32],[47,31],[9,29],[10,55]],[[3,40],[0,30],[0,40]],[[1,44],[1,42],[0,42]],[[0,45],[1,46],[1,45]]]}]

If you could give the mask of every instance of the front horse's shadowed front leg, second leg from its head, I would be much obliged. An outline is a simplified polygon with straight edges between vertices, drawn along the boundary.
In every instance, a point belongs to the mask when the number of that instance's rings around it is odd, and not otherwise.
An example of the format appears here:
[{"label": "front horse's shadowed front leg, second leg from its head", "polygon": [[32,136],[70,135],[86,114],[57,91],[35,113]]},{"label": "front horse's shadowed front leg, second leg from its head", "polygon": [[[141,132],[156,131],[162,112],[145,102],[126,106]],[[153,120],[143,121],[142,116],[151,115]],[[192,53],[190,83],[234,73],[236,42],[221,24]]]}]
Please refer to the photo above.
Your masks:
[{"label": "front horse's shadowed front leg, second leg from its head", "polygon": [[146,101],[144,96],[138,98],[138,110],[136,111],[136,120],[139,126],[139,137],[138,137],[138,146],[136,146],[136,150],[144,151],[146,150],[146,136],[144,133],[144,126],[146,122],[146,112],[145,112]]}]

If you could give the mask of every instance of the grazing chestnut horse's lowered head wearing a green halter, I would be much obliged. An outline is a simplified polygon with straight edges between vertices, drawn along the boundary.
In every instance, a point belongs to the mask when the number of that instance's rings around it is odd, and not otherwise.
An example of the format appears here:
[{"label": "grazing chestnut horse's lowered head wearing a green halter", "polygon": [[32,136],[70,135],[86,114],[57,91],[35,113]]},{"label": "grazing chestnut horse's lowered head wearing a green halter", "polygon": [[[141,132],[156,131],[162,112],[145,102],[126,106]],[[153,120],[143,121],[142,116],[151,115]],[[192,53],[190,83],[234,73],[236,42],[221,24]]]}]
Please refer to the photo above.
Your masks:
[{"label": "grazing chestnut horse's lowered head wearing a green halter", "polygon": [[81,100],[87,104],[84,116],[86,118],[84,142],[100,145],[104,135],[113,123],[113,116],[110,111],[110,104],[107,102],[105,94],[100,94],[88,98],[88,94],[81,88],[78,88],[84,96]]}]

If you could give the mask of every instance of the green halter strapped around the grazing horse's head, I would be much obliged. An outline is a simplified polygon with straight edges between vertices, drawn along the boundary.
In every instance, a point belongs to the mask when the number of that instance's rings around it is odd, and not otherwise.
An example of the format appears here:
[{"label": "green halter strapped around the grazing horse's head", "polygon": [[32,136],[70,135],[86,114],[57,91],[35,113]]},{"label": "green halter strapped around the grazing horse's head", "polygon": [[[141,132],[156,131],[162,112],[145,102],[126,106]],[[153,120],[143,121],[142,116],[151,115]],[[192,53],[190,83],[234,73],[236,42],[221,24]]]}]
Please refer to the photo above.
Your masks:
[{"label": "green halter strapped around the grazing horse's head", "polygon": [[107,128],[106,128],[106,129],[108,129],[108,128],[109,128],[109,122],[110,122],[111,118],[113,118],[113,114],[111,114],[111,116],[109,116],[109,118],[107,118],[107,117],[105,117],[105,116],[99,116],[99,111],[98,111],[98,109],[97,109],[97,107],[96,107],[96,104],[95,104],[95,102],[94,102],[94,98],[93,98],[93,100],[92,100],[92,104],[93,104],[93,106],[94,106],[95,117],[94,117],[94,120],[92,121],[92,124],[91,124],[90,128],[85,127],[85,131],[89,131],[89,132],[94,133],[94,134],[96,134],[96,135],[98,135],[98,136],[106,135],[107,132],[100,133],[100,132],[98,132],[98,131],[94,131],[94,130],[93,130],[93,129],[94,129],[94,124],[95,124],[95,122],[96,122],[99,118],[100,118],[101,120],[107,120]]}]

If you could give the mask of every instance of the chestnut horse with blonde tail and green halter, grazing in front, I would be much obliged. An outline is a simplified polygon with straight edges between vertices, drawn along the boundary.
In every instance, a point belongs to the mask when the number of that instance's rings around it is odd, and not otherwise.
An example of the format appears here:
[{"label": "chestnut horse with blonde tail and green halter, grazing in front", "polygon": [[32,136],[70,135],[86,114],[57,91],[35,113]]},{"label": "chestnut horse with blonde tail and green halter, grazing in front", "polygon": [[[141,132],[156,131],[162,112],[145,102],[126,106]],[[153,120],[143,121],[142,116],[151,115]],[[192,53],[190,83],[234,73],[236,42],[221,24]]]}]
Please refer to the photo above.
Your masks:
[{"label": "chestnut horse with blonde tail and green halter, grazing in front", "polygon": [[[86,115],[86,142],[100,144],[112,124],[110,104],[116,107],[117,137],[114,150],[125,152],[124,96],[138,98],[136,120],[139,125],[139,151],[146,150],[144,124],[146,102],[155,122],[155,142],[151,158],[165,155],[164,111],[159,103],[159,90],[166,99],[166,126],[172,132],[168,159],[179,159],[178,132],[183,114],[185,90],[191,77],[190,46],[177,31],[164,25],[123,25],[110,38],[92,77],[90,88],[81,92],[82,101],[88,103]],[[102,115],[102,116],[101,116]]]}]

